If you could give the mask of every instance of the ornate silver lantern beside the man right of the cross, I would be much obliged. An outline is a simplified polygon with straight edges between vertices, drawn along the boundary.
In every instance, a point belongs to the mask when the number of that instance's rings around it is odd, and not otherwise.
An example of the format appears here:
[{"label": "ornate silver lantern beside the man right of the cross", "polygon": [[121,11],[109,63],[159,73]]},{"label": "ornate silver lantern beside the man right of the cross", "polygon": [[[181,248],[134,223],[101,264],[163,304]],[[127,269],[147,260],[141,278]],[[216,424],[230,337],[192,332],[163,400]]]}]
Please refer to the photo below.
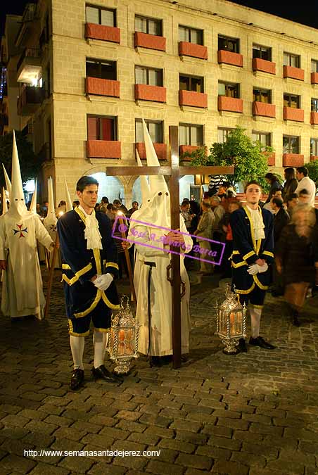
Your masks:
[{"label": "ornate silver lantern beside the man right of the cross", "polygon": [[235,355],[240,338],[246,337],[246,305],[241,305],[239,296],[231,292],[227,284],[225,300],[217,303],[217,334],[224,344],[223,353]]}]

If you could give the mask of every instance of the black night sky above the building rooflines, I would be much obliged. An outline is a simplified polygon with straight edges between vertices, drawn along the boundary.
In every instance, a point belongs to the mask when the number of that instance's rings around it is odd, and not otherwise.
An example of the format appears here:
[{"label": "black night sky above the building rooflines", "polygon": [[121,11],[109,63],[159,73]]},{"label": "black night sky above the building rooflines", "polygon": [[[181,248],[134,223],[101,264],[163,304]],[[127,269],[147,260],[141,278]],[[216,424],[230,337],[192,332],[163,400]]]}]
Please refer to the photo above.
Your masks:
[{"label": "black night sky above the building rooflines", "polygon": [[[7,13],[21,15],[27,2],[32,0],[1,0],[0,10],[0,34],[4,32],[4,23]],[[266,11],[273,15],[287,18],[303,25],[318,28],[318,1],[303,0],[299,4],[294,1],[281,0],[229,0],[234,4],[249,6],[256,10]],[[94,2],[93,2],[94,3]]]}]

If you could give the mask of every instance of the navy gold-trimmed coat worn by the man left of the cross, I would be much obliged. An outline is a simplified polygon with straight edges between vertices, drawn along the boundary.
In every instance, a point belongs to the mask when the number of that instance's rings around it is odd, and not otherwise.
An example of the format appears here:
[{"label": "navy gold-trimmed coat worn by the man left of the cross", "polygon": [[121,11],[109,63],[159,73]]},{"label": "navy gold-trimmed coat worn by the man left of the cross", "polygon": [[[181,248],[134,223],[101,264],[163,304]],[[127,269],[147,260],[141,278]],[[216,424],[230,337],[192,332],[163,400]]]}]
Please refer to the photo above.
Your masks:
[{"label": "navy gold-trimmed coat worn by the man left of the cross", "polygon": [[87,240],[84,239],[85,215],[81,210],[75,208],[58,220],[68,318],[88,315],[100,300],[108,308],[119,308],[114,281],[105,292],[97,289],[90,281],[94,275],[108,272],[115,278],[118,277],[117,248],[110,220],[103,213],[96,213],[96,219],[103,249],[94,250],[87,249]]}]

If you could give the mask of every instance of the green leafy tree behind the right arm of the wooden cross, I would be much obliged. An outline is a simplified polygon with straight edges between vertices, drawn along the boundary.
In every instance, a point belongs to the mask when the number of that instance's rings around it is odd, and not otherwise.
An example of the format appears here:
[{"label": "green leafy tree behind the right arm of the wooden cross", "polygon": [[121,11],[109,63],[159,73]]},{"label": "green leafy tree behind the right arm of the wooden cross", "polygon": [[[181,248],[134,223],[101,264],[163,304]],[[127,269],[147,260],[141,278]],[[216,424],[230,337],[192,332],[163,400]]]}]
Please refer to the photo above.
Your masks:
[{"label": "green leafy tree behind the right arm of the wooden cross", "polygon": [[248,182],[257,179],[265,191],[268,184],[264,177],[268,171],[267,154],[272,153],[273,148],[264,147],[260,142],[253,142],[244,134],[244,129],[236,127],[229,132],[224,144],[215,142],[210,148],[210,155],[205,153],[205,147],[189,154],[191,165],[234,165],[234,175],[227,175],[227,181],[232,185],[239,182]]}]

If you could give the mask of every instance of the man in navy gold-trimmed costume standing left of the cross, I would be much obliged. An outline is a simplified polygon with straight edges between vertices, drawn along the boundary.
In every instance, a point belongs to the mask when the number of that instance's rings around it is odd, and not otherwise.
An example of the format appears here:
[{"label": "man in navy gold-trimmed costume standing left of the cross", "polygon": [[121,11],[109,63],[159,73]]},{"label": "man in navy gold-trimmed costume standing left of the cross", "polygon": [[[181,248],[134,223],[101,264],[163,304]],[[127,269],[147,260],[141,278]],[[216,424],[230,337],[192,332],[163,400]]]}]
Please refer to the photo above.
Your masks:
[{"label": "man in navy gold-trimmed costume standing left of the cross", "polygon": [[84,336],[93,324],[95,379],[116,382],[118,379],[104,365],[111,315],[119,308],[114,278],[118,277],[117,249],[112,238],[110,220],[95,214],[98,182],[82,177],[77,182],[79,206],[58,220],[61,245],[70,348],[74,369],[70,388],[84,383]]}]

